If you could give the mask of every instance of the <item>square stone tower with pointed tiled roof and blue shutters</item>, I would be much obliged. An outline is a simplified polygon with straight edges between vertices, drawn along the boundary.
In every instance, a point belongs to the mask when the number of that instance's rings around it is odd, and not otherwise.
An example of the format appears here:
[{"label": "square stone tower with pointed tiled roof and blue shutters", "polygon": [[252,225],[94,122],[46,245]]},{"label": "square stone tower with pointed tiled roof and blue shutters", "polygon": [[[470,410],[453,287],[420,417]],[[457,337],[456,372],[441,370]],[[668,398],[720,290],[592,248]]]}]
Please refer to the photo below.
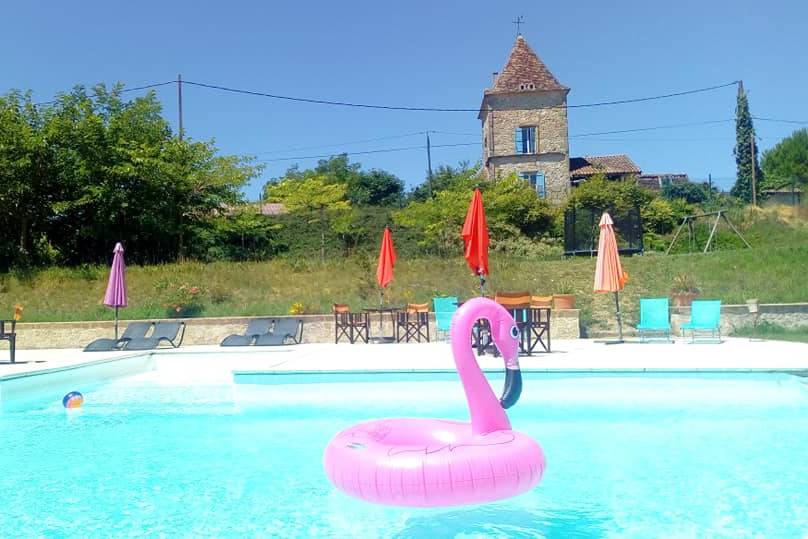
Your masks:
[{"label": "square stone tower with pointed tiled roof and blue shutters", "polygon": [[567,94],[519,35],[480,105],[483,167],[489,178],[517,173],[551,201],[570,188]]}]

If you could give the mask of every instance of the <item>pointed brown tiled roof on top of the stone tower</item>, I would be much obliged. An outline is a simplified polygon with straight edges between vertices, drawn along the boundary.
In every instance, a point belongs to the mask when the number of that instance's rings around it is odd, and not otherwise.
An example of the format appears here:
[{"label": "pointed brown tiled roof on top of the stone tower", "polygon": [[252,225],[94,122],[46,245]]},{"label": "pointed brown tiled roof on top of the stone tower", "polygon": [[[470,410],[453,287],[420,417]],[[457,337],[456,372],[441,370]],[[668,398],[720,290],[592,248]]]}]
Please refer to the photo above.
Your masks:
[{"label": "pointed brown tiled roof on top of the stone tower", "polygon": [[513,44],[508,63],[497,77],[493,88],[486,94],[500,94],[524,91],[569,90],[558,82],[539,57],[527,44],[525,38],[519,36]]}]

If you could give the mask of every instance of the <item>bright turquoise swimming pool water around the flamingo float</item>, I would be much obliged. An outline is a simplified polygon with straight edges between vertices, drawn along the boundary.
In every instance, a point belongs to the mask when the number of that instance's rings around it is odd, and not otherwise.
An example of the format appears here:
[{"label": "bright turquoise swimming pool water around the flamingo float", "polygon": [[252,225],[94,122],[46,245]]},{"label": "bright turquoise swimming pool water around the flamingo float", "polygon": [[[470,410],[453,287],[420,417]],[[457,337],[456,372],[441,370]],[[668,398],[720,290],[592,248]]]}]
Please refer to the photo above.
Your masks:
[{"label": "bright turquoise swimming pool water around the flamingo float", "polygon": [[[499,382],[495,382],[498,386]],[[0,413],[3,537],[804,537],[808,386],[788,375],[537,375],[510,412],[548,468],[529,494],[409,510],[334,490],[330,437],[465,419],[456,381],[183,385],[160,371]]]}]

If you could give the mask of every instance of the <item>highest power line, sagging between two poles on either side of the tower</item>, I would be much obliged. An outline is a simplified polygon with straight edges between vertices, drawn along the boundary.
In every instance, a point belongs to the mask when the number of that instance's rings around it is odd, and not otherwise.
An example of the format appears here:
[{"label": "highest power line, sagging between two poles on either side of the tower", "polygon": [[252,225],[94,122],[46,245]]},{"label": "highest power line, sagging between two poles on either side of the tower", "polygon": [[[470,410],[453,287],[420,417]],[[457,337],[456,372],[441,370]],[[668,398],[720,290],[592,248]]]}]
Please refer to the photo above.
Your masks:
[{"label": "highest power line, sagging between two poles on either side of the tower", "polygon": [[[193,82],[193,81],[183,81],[185,84],[191,84],[193,86],[199,86],[202,88],[209,88],[212,90],[220,90],[223,92],[230,92],[236,94],[244,94],[244,95],[253,95],[258,97],[268,97],[270,99],[280,99],[284,101],[296,101],[300,103],[313,103],[318,105],[334,105],[340,107],[357,107],[357,108],[365,108],[365,109],[382,109],[382,110],[403,110],[403,111],[410,111],[410,112],[479,112],[479,108],[469,109],[469,108],[442,108],[442,107],[411,107],[411,106],[398,106],[398,105],[371,105],[368,103],[356,103],[351,101],[335,101],[330,99],[313,99],[313,98],[306,98],[306,97],[295,97],[295,96],[288,96],[288,95],[279,95],[279,94],[271,94],[267,92],[258,92],[255,90],[245,90],[241,88],[232,88],[228,86],[220,86],[217,84],[207,84],[203,82]],[[619,99],[616,101],[600,101],[596,103],[581,103],[578,105],[548,105],[544,107],[536,107],[539,109],[552,109],[552,108],[585,108],[585,107],[602,107],[608,105],[624,105],[628,103],[640,103],[644,101],[653,101],[657,99],[667,99],[671,97],[679,97],[684,95],[691,95],[697,94],[701,92],[710,92],[713,90],[718,90],[720,88],[726,88],[728,86],[734,86],[738,84],[738,81],[732,81],[725,84],[719,84],[716,86],[709,86],[706,88],[696,88],[693,90],[685,90],[683,92],[674,92],[669,94],[663,95],[656,95],[650,97],[638,97],[638,98],[630,98],[630,99]]]}]

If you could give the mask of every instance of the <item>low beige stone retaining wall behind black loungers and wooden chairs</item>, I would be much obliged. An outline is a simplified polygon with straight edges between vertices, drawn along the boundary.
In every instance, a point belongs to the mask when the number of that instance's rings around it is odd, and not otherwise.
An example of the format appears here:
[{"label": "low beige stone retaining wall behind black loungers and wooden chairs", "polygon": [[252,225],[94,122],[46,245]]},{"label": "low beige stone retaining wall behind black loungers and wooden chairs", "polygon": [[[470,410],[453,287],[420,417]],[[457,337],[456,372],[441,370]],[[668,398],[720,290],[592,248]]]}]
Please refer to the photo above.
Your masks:
[{"label": "low beige stone retaining wall behind black loungers and wooden chairs", "polygon": [[[334,317],[332,315],[304,315],[297,318],[304,320],[303,342],[334,341]],[[183,344],[219,344],[222,339],[230,334],[242,333],[248,321],[248,317],[187,319],[185,320],[187,327]],[[120,323],[120,332],[123,332],[127,322],[122,321]],[[114,327],[111,321],[18,323],[17,348],[83,348],[94,339],[112,337]],[[379,318],[377,315],[371,317],[370,329],[371,336],[379,334]],[[434,340],[434,315],[430,315],[429,331],[430,337]],[[381,334],[393,334],[393,325],[389,317],[385,317]],[[577,339],[579,337],[578,310],[553,311],[550,323],[550,338]],[[7,348],[7,346],[3,346],[0,342],[0,347]]]}]

